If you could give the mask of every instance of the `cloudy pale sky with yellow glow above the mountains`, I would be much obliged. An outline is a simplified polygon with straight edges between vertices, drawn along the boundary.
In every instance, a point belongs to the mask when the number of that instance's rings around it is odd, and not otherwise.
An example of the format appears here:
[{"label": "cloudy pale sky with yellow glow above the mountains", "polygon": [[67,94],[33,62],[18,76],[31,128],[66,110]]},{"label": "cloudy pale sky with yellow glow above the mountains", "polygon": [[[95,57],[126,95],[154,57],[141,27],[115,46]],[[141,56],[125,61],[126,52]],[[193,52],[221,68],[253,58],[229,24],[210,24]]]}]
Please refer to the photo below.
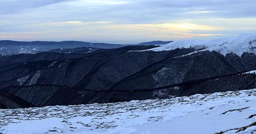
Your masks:
[{"label": "cloudy pale sky with yellow glow above the mountains", "polygon": [[0,40],[140,43],[256,33],[256,0],[0,0]]}]

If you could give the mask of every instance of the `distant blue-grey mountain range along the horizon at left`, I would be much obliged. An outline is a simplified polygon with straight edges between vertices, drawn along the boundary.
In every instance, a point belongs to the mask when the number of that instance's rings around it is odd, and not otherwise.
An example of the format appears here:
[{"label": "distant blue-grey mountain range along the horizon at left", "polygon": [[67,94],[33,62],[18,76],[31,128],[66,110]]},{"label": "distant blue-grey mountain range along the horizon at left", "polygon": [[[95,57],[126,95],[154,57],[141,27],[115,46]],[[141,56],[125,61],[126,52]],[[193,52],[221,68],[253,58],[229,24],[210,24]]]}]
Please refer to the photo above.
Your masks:
[{"label": "distant blue-grey mountain range along the horizon at left", "polygon": [[[170,41],[152,41],[139,44],[130,44],[133,46],[137,45],[163,45],[168,44]],[[0,54],[21,54],[21,53],[32,53],[38,51],[50,51],[53,49],[70,49],[78,47],[91,47],[91,48],[119,48],[127,45],[122,44],[108,44],[108,43],[89,43],[81,41],[32,41],[32,42],[20,42],[12,40],[0,40]],[[69,51],[68,51],[69,52]]]}]

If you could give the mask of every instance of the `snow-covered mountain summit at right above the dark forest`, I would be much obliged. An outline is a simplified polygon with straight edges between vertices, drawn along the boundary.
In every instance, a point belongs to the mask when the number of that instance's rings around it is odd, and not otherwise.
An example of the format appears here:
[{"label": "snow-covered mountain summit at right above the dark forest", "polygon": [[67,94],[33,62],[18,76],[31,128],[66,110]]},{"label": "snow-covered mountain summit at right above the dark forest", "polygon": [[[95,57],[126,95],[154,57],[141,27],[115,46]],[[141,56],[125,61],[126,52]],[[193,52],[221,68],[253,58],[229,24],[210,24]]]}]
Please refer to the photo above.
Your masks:
[{"label": "snow-covered mountain summit at right above the dark forest", "polygon": [[218,51],[223,55],[234,53],[241,57],[244,52],[255,54],[256,34],[241,34],[236,37],[215,40],[180,40],[143,51],[168,51],[177,48],[195,48],[196,51]]}]

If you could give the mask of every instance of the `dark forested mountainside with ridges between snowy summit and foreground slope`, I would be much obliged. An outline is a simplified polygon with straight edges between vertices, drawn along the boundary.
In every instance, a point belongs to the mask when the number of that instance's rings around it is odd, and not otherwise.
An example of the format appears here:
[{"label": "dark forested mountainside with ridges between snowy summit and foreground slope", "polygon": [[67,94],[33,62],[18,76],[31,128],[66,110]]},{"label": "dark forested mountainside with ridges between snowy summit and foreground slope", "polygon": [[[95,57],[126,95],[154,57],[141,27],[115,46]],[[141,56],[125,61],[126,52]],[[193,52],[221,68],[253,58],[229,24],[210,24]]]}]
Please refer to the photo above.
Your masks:
[{"label": "dark forested mountainside with ridges between snowy summit and foreground slope", "polygon": [[[0,57],[0,108],[163,99],[256,88],[253,53],[157,46]],[[84,50],[88,51],[88,50]],[[192,53],[192,54],[189,54]],[[187,55],[186,55],[187,54]]]}]

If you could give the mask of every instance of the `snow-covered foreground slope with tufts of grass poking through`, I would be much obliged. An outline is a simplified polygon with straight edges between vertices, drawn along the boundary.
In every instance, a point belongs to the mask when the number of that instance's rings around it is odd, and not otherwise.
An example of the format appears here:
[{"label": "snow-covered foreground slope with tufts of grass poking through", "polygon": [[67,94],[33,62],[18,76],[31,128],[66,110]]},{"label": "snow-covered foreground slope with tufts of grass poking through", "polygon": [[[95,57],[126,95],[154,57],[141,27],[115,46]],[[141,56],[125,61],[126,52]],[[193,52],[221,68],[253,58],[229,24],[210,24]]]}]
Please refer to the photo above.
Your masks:
[{"label": "snow-covered foreground slope with tufts of grass poking through", "polygon": [[[256,89],[167,100],[0,110],[3,134],[253,134]],[[249,118],[249,119],[247,119]],[[244,127],[247,126],[247,127]],[[239,130],[239,127],[244,129]]]}]

